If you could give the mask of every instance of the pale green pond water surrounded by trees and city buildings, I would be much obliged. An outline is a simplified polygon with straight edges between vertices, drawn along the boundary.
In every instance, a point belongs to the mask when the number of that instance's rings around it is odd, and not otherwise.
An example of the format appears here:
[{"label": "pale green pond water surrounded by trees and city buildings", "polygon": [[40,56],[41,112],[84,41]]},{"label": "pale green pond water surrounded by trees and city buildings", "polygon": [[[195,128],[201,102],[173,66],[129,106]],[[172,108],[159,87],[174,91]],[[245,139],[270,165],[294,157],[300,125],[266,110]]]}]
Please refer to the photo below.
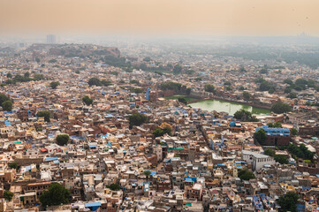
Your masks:
[{"label": "pale green pond water surrounded by trees and city buildings", "polygon": [[216,100],[216,99],[204,100],[201,102],[194,102],[194,103],[190,103],[189,105],[192,106],[192,108],[201,109],[201,110],[208,110],[208,111],[216,110],[217,112],[228,112],[229,115],[231,116],[237,110],[240,110],[240,109],[247,110],[255,115],[270,113],[270,110],[255,108],[244,103],[228,102],[228,101]]}]

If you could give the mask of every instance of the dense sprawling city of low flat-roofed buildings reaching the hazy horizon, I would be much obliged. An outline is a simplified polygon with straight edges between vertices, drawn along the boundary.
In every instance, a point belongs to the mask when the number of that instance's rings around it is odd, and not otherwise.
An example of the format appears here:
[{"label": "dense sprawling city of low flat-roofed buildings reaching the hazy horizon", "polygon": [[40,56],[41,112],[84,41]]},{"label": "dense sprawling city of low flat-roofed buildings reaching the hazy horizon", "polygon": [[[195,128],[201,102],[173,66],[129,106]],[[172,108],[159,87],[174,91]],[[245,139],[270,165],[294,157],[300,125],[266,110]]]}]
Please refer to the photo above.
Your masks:
[{"label": "dense sprawling city of low flat-roofed buildings reaching the hazy horizon", "polygon": [[0,210],[318,211],[317,64],[185,46],[3,43]]}]

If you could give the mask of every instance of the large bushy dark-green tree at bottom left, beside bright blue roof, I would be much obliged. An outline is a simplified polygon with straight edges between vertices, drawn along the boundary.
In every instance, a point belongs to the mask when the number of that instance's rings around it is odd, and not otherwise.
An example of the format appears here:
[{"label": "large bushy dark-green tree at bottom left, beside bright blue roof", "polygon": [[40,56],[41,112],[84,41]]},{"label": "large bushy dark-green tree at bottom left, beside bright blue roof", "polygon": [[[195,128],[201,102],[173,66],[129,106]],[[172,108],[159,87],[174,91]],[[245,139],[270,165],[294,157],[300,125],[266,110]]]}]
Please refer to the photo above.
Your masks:
[{"label": "large bushy dark-green tree at bottom left, beside bright blue roof", "polygon": [[53,183],[49,189],[44,191],[39,199],[42,206],[61,205],[69,203],[71,192],[58,183]]}]

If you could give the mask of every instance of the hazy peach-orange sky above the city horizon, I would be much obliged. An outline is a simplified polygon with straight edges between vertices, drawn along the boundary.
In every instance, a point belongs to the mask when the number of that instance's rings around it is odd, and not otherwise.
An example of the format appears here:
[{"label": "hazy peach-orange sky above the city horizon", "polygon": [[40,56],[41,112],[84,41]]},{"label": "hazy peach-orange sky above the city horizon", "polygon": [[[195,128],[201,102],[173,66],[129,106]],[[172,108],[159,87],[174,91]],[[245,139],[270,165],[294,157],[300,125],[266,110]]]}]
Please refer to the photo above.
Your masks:
[{"label": "hazy peach-orange sky above the city horizon", "polygon": [[319,0],[0,0],[0,34],[319,36]]}]

